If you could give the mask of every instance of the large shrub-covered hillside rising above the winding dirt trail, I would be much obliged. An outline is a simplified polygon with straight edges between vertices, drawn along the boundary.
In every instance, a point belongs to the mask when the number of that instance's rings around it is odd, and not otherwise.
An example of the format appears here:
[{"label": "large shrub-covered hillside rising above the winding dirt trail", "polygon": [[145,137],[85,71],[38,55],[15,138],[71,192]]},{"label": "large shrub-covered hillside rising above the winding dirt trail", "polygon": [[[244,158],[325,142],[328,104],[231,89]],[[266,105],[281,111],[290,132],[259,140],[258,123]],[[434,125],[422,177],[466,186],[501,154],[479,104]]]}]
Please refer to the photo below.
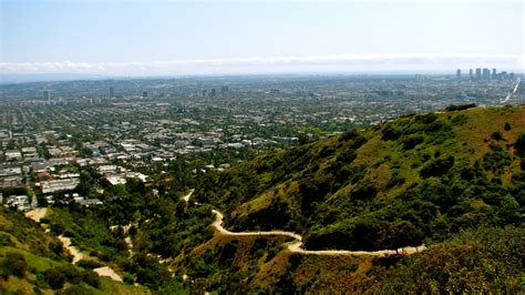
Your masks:
[{"label": "large shrub-covered hillside rising above the winding dirt trail", "polygon": [[[462,109],[462,108],[460,108]],[[521,225],[525,106],[406,115],[257,156],[196,191],[233,231],[287,230],[309,250],[382,250]]]}]

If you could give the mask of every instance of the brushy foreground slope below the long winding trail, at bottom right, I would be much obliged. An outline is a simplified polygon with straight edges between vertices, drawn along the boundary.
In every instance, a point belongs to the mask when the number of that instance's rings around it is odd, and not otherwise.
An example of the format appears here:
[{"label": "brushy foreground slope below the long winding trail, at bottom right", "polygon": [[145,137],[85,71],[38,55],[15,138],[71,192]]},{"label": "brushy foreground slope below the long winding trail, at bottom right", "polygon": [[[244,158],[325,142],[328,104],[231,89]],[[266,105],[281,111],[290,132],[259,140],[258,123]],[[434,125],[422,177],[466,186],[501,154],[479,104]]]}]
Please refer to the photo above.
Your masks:
[{"label": "brushy foreground slope below the long winding trail, at bottom right", "polygon": [[[523,227],[454,234],[413,255],[301,255],[282,237],[216,235],[175,262],[195,293],[445,294],[525,291]],[[189,281],[189,279],[188,279]]]}]

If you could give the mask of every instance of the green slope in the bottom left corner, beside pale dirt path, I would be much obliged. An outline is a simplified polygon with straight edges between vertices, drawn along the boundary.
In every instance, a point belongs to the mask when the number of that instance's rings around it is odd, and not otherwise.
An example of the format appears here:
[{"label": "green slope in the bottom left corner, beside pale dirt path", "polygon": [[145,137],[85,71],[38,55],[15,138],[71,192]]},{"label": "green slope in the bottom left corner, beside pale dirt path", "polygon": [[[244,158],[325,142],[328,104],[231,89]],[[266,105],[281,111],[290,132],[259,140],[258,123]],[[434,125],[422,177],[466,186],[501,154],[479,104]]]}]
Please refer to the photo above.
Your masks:
[{"label": "green slope in the bottom left corner, beside pale dirt path", "polygon": [[84,264],[71,264],[60,241],[19,212],[0,208],[0,293],[2,294],[147,294]]}]

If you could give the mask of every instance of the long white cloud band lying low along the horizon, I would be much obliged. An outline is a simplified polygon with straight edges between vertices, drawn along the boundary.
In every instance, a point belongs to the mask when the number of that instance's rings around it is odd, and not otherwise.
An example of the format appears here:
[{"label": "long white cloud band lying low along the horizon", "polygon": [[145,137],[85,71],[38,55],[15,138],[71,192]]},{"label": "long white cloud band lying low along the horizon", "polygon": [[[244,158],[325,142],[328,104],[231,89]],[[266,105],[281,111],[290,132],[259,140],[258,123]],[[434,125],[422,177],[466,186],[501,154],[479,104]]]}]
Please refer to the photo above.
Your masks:
[{"label": "long white cloud band lying low along the horizon", "polygon": [[2,73],[96,73],[96,74],[214,74],[300,71],[432,71],[456,68],[502,68],[524,71],[518,54],[488,53],[348,53],[306,57],[251,57],[152,62],[0,62]]}]

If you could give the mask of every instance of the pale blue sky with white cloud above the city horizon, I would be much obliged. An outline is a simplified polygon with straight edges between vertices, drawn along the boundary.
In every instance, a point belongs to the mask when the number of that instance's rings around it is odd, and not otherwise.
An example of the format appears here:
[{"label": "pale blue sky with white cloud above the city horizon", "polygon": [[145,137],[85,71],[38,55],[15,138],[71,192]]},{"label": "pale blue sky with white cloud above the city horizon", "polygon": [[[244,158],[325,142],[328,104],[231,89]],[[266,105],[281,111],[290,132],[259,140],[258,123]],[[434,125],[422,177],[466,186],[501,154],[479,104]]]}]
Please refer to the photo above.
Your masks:
[{"label": "pale blue sky with white cloud above the city horizon", "polygon": [[0,3],[0,73],[525,72],[523,1]]}]

